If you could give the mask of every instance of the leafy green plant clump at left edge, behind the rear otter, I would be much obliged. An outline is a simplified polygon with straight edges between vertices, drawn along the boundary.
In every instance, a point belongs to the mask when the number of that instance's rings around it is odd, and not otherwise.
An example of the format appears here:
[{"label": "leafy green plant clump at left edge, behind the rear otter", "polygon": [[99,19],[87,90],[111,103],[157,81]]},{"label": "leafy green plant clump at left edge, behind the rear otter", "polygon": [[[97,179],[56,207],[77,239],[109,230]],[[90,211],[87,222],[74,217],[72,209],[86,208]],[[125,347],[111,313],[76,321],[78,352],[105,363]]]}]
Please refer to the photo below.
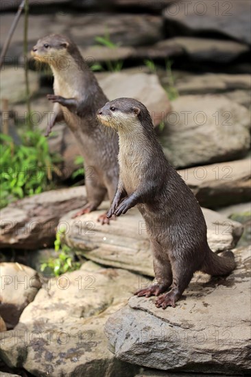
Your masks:
[{"label": "leafy green plant clump at left edge, behind the rear otter", "polygon": [[58,171],[50,156],[47,139],[38,131],[27,131],[21,145],[0,134],[0,208],[27,195],[51,189],[52,173]]}]

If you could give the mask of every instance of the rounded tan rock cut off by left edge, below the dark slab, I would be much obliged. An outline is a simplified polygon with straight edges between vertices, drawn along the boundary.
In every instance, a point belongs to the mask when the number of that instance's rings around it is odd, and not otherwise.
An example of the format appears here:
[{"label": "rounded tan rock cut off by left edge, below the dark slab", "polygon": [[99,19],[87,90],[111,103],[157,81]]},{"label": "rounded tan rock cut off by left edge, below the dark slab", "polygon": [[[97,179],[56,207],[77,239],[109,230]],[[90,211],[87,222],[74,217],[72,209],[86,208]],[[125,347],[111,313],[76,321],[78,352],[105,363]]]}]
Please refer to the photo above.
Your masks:
[{"label": "rounded tan rock cut off by left edge, below the dark slab", "polygon": [[34,300],[41,283],[38,273],[19,263],[0,263],[0,315],[8,329],[14,328],[19,317]]}]

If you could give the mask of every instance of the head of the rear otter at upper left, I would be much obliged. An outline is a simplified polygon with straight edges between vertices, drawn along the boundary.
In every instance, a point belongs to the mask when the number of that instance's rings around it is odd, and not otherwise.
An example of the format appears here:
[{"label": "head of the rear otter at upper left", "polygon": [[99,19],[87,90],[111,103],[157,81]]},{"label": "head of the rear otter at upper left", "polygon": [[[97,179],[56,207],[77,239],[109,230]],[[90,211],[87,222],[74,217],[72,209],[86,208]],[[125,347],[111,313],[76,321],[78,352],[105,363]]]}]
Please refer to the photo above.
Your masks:
[{"label": "head of the rear otter at upper left", "polygon": [[56,66],[69,56],[71,41],[60,34],[45,36],[36,42],[31,53],[35,60]]}]

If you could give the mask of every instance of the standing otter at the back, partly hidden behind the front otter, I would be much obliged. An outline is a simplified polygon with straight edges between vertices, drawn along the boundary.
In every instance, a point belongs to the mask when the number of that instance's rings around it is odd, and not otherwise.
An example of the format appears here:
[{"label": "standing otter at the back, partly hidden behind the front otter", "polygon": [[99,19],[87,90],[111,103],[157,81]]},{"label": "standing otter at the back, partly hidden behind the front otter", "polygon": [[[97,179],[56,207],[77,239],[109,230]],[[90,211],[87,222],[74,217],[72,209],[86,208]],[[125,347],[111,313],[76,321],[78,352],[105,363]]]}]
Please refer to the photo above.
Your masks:
[{"label": "standing otter at the back, partly hidden behind the front otter", "polygon": [[[55,104],[45,136],[56,121],[64,119],[80,145],[85,171],[87,167],[91,169],[85,182],[88,203],[73,216],[77,217],[95,210],[106,193],[110,201],[115,195],[119,179],[117,134],[113,130],[104,133],[96,119],[97,110],[108,98],[69,38],[60,34],[41,38],[33,47],[32,56],[49,64],[54,76],[55,94],[47,95],[47,98]],[[106,213],[99,221],[109,223]]]}]

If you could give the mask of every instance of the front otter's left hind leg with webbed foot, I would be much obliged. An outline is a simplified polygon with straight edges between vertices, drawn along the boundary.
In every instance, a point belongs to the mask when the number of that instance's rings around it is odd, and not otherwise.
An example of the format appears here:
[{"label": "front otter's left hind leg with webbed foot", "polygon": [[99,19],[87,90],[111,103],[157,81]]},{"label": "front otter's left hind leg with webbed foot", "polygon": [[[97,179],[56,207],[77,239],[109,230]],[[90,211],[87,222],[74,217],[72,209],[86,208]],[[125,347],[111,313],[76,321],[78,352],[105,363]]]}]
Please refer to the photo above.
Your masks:
[{"label": "front otter's left hind leg with webbed foot", "polygon": [[160,293],[167,291],[173,280],[171,272],[171,263],[169,256],[158,241],[151,241],[152,252],[154,256],[154,273],[156,284],[145,289],[139,289],[134,293],[138,297],[158,296]]}]

